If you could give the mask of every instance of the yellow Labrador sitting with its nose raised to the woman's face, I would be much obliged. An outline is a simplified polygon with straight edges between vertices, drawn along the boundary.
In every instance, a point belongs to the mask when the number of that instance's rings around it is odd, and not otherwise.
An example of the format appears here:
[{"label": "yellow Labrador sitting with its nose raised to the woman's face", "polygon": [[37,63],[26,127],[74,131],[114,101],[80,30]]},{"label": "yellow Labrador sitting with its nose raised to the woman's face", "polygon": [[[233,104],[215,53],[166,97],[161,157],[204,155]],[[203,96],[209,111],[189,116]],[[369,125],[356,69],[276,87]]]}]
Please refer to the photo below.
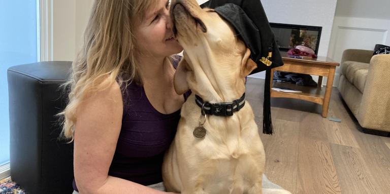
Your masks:
[{"label": "yellow Labrador sitting with its nose raised to the woman's face", "polygon": [[[185,53],[175,90],[192,94],[183,104],[176,137],[167,151],[163,179],[181,193],[262,193],[265,152],[249,103],[230,117],[205,118],[195,95],[210,103],[233,102],[245,92],[245,76],[256,64],[234,29],[196,0],[173,1],[175,35]],[[194,129],[206,129],[204,137]],[[266,190],[263,190],[266,193]],[[289,193],[289,192],[267,192]]]}]

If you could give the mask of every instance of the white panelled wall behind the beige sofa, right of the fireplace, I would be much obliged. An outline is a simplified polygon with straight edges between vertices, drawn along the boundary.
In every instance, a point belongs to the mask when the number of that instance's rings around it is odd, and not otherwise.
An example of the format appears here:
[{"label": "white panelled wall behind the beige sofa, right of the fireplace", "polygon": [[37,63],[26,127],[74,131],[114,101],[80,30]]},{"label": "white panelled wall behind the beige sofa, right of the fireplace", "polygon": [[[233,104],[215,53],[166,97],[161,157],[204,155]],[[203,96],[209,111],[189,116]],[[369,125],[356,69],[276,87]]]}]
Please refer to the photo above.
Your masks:
[{"label": "white panelled wall behind the beige sofa, right of the fireplace", "polygon": [[[345,49],[373,50],[375,44],[390,45],[389,0],[339,0],[328,56],[340,62]],[[333,86],[338,86],[340,67]]]}]

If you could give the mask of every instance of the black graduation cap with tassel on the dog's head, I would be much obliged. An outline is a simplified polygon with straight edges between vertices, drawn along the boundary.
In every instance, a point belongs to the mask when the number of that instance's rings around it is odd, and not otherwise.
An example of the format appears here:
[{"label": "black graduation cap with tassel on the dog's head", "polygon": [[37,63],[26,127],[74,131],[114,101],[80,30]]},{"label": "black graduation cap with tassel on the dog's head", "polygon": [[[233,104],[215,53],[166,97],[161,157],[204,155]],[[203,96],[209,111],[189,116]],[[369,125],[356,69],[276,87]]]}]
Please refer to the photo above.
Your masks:
[{"label": "black graduation cap with tassel on the dog's head", "polygon": [[250,58],[257,68],[251,74],[266,70],[263,106],[263,133],[272,134],[271,68],[283,65],[266,13],[260,0],[210,0],[201,5],[212,8],[238,32],[251,51]]}]

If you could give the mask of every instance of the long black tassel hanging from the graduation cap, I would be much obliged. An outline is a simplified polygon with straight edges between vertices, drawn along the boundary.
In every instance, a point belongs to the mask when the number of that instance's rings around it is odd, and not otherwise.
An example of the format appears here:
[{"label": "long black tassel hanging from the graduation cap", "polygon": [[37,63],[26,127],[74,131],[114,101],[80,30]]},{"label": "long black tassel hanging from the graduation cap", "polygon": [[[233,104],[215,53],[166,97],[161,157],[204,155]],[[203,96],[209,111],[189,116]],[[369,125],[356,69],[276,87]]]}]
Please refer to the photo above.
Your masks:
[{"label": "long black tassel hanging from the graduation cap", "polygon": [[264,104],[263,104],[263,133],[273,133],[271,119],[271,69],[266,70],[266,83],[264,84]]}]

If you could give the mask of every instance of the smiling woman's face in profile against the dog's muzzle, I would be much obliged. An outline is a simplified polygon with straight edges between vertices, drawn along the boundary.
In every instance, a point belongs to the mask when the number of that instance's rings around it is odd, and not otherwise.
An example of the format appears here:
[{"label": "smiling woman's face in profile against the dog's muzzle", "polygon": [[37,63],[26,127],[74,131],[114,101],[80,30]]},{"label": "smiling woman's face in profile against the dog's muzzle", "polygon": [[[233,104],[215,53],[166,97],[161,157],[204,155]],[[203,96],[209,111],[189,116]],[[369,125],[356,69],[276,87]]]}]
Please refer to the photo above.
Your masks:
[{"label": "smiling woman's face in profile against the dog's muzzle", "polygon": [[166,57],[183,50],[179,42],[173,38],[169,2],[159,0],[159,5],[148,10],[145,18],[137,25],[135,30],[137,46],[144,56]]}]

